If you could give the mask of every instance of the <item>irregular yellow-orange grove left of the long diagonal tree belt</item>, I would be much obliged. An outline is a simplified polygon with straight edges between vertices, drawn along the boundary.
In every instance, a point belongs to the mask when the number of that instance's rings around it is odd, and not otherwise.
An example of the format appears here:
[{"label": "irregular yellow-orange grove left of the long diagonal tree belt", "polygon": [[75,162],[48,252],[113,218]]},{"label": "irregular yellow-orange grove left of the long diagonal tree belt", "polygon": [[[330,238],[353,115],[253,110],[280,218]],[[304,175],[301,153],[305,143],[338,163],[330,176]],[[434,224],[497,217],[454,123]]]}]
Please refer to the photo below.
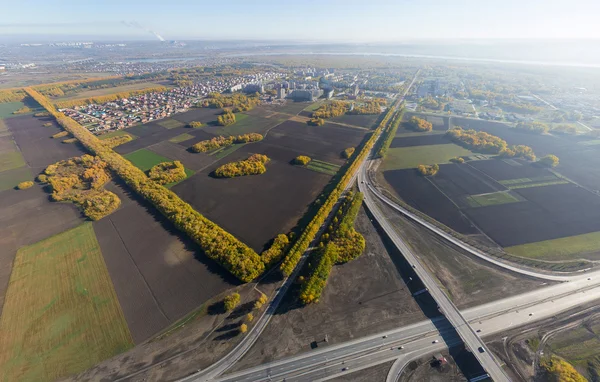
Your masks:
[{"label": "irregular yellow-orange grove left of the long diagonal tree belt", "polygon": [[52,200],[71,201],[87,217],[99,220],[121,205],[117,195],[104,189],[110,180],[107,167],[99,157],[86,154],[48,166],[38,180],[49,185]]}]

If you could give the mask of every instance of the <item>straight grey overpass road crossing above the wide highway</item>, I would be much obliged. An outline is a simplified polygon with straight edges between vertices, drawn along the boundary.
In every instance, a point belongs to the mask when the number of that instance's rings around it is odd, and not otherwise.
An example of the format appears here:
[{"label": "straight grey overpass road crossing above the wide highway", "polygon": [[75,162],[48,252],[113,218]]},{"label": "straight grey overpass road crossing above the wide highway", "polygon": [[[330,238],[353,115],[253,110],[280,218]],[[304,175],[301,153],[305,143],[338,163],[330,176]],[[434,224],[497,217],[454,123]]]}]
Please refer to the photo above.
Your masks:
[{"label": "straight grey overpass road crossing above the wide highway", "polygon": [[[392,240],[400,253],[402,253],[402,256],[404,256],[411,264],[417,276],[419,276],[425,287],[428,289],[429,294],[438,304],[440,312],[446,316],[448,321],[454,326],[460,337],[463,339],[465,346],[471,350],[483,369],[496,382],[508,381],[509,379],[502,370],[502,367],[489,351],[483,340],[475,333],[475,330],[469,325],[468,321],[463,317],[458,308],[452,303],[446,293],[442,291],[437,280],[422,266],[418,257],[415,256],[413,251],[406,243],[404,243],[396,230],[394,230],[385,216],[383,216],[379,207],[375,204],[375,201],[372,199],[371,193],[369,192],[372,188],[369,187],[369,180],[366,178],[367,163],[368,162],[365,162],[363,164],[358,176],[358,188],[365,194],[365,205],[369,211],[371,211],[373,217],[385,231],[386,235]],[[365,179],[367,183],[365,183]]]}]

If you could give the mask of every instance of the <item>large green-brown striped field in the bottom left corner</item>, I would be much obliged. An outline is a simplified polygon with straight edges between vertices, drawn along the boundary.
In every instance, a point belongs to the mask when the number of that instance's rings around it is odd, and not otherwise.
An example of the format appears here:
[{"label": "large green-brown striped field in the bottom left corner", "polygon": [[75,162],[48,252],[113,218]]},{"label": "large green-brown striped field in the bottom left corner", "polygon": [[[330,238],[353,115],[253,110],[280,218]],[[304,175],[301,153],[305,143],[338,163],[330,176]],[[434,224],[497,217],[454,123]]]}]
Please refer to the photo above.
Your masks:
[{"label": "large green-brown striped field in the bottom left corner", "polygon": [[2,381],[54,381],[133,347],[92,223],[19,249],[0,336]]}]

